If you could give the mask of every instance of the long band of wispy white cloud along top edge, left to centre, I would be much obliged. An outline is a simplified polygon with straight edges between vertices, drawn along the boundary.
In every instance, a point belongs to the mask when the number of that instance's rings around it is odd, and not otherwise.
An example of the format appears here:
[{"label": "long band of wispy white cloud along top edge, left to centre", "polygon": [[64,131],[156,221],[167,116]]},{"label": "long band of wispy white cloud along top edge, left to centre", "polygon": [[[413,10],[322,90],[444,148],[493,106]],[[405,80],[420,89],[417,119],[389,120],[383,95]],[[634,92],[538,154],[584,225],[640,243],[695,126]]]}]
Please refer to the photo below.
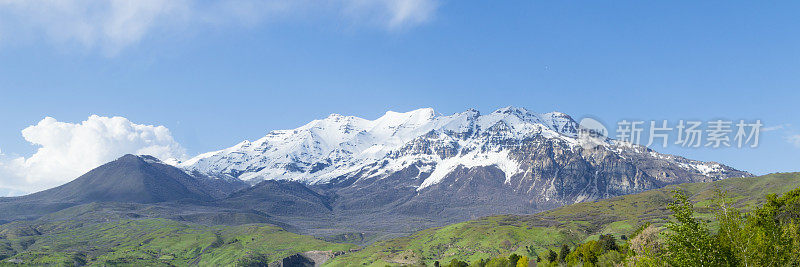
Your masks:
[{"label": "long band of wispy white cloud along top edge, left to centre", "polygon": [[[108,55],[148,33],[183,26],[258,24],[313,12],[377,23],[387,29],[417,26],[439,0],[0,0],[0,41],[43,35],[58,44],[100,48]],[[177,27],[180,26],[180,27]]]}]

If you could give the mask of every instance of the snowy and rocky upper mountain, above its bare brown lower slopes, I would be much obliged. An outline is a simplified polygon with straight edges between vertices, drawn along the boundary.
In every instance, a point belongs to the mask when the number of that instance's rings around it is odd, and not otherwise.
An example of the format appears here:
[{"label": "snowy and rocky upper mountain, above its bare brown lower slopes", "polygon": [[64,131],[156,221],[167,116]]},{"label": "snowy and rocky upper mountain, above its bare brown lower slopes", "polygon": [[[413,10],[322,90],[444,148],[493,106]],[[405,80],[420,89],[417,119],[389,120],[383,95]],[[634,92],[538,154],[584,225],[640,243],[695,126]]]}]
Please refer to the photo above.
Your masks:
[{"label": "snowy and rocky upper mountain, above its bare brown lower slopes", "polygon": [[499,172],[492,179],[500,178],[504,190],[544,206],[750,175],[610,138],[586,140],[579,127],[564,113],[515,107],[486,115],[473,109],[449,116],[429,108],[390,111],[375,120],[333,114],[179,167],[251,184],[290,180],[347,187],[394,177],[417,192],[465,170],[493,168]]}]

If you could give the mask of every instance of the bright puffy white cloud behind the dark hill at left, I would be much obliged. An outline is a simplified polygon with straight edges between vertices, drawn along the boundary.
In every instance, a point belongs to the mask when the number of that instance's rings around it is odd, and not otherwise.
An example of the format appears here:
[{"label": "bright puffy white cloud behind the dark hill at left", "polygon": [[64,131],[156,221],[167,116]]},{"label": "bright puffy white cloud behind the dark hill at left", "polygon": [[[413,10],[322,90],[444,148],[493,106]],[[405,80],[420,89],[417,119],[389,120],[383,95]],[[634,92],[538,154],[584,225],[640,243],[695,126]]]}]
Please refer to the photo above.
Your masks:
[{"label": "bright puffy white cloud behind the dark hill at left", "polygon": [[0,192],[34,192],[66,183],[125,154],[162,160],[186,158],[164,126],[135,124],[123,117],[90,116],[81,123],[46,117],[22,130],[38,146],[30,157],[0,158]]}]

